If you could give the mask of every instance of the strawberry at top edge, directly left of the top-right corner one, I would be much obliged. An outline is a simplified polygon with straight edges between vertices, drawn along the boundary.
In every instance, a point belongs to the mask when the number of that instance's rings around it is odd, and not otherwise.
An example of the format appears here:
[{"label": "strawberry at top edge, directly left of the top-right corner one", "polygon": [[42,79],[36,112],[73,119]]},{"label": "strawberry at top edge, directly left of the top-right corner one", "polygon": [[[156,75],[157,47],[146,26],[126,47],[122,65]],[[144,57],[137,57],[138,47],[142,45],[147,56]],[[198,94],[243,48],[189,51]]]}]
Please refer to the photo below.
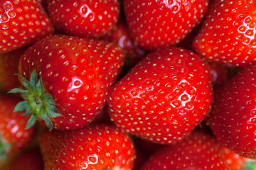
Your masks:
[{"label": "strawberry at top edge, directly left of the top-right corner one", "polygon": [[124,0],[129,29],[145,50],[176,45],[201,21],[207,7],[208,0]]}]

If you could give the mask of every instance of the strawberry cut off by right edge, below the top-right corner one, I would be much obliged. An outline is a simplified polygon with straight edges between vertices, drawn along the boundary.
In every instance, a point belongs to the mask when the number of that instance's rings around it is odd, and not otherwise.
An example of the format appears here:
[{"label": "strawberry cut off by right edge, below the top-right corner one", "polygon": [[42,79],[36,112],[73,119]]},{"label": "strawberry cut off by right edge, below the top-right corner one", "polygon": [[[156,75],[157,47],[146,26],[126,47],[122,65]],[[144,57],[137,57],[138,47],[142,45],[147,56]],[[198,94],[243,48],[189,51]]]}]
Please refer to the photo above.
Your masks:
[{"label": "strawberry cut off by right edge, below the top-right corner one", "polygon": [[256,159],[256,66],[246,67],[215,92],[207,120],[214,135],[233,152]]}]

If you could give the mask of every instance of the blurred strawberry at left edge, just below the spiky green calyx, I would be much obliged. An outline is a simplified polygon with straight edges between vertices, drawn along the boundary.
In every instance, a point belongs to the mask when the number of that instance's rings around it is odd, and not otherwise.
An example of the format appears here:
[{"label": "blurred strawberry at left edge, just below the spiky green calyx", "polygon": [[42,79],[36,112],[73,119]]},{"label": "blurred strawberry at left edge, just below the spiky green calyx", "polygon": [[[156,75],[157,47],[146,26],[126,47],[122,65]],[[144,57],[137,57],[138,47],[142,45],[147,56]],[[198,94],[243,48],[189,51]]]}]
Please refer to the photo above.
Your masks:
[{"label": "blurred strawberry at left edge, just below the spiky green calyx", "polygon": [[0,94],[0,160],[24,149],[33,140],[35,128],[25,130],[28,118],[14,109],[18,102],[16,97]]}]

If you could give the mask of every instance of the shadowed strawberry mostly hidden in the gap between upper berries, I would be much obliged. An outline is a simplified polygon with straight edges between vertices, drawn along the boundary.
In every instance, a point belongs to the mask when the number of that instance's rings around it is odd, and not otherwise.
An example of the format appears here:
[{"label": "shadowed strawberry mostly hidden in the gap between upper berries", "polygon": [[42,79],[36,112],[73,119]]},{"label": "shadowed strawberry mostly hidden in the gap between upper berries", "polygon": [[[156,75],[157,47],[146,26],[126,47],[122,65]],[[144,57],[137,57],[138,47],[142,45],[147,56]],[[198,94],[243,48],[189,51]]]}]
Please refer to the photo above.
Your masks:
[{"label": "shadowed strawberry mostly hidden in the gap between upper berries", "polygon": [[127,67],[126,69],[130,69],[137,64],[146,53],[137,45],[134,45],[129,29],[124,21],[119,21],[109,32],[107,32],[103,37],[103,40],[117,43],[119,47],[124,50],[124,55],[127,58],[125,63]]}]

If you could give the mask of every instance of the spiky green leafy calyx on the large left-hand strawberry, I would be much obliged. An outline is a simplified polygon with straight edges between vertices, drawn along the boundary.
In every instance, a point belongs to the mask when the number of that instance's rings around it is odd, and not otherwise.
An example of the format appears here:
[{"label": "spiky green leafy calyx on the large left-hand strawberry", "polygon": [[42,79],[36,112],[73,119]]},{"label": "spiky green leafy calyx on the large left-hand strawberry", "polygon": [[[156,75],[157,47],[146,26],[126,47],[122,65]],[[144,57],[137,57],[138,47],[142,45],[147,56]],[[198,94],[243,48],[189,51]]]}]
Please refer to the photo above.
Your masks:
[{"label": "spiky green leafy calyx on the large left-hand strawberry", "polygon": [[14,108],[14,111],[26,110],[23,115],[30,116],[26,129],[35,125],[37,118],[41,118],[46,122],[47,127],[52,130],[53,123],[50,117],[55,118],[63,115],[58,113],[53,96],[45,92],[42,77],[38,80],[36,69],[31,73],[30,81],[19,74],[16,75],[21,77],[25,89],[15,88],[11,89],[8,93],[21,93],[25,101],[19,102]]}]

